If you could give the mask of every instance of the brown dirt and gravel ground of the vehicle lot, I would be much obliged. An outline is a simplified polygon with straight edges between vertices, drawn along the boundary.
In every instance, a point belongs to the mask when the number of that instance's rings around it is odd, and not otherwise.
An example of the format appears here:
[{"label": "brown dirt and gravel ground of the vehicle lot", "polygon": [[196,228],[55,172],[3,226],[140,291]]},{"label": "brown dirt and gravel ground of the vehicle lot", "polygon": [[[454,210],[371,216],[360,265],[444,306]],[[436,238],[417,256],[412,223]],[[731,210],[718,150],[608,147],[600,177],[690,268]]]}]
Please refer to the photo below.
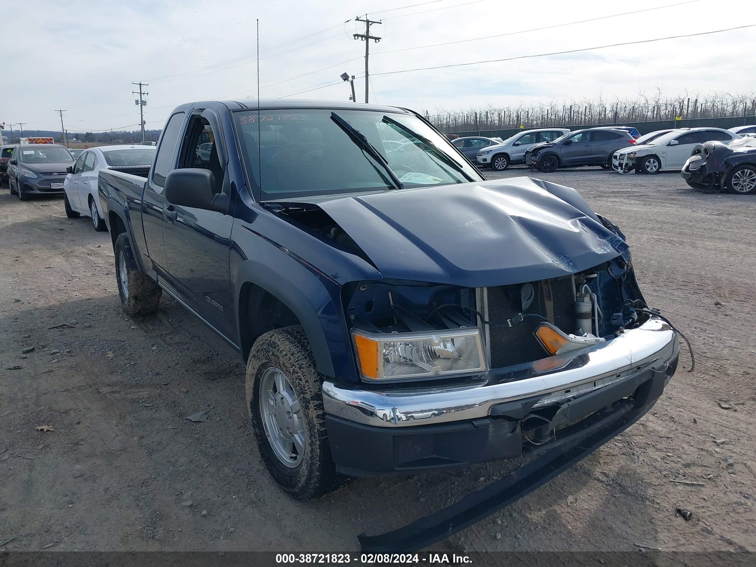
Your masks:
[{"label": "brown dirt and gravel ground of the vehicle lot", "polygon": [[[542,177],[627,234],[646,299],[689,336],[696,371],[683,351],[643,420],[437,548],[756,550],[756,198],[694,193],[677,174]],[[3,189],[0,243],[0,549],[357,550],[357,534],[438,510],[503,469],[357,479],[290,500],[260,463],[243,362],[166,296],[150,318],[122,314],[107,233],[67,219],[59,198],[21,203]],[[204,410],[206,423],[184,420]]]}]

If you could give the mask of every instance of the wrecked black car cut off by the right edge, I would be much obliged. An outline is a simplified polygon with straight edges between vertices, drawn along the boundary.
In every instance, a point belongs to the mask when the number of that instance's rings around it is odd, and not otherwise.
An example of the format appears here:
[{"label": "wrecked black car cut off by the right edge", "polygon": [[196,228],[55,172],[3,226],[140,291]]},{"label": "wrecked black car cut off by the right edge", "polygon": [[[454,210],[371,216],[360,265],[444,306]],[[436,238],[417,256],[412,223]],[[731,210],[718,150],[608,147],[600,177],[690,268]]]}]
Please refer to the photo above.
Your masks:
[{"label": "wrecked black car cut off by the right edge", "polygon": [[719,141],[697,144],[683,171],[694,189],[727,189],[736,195],[756,193],[756,138],[743,138],[730,145]]}]

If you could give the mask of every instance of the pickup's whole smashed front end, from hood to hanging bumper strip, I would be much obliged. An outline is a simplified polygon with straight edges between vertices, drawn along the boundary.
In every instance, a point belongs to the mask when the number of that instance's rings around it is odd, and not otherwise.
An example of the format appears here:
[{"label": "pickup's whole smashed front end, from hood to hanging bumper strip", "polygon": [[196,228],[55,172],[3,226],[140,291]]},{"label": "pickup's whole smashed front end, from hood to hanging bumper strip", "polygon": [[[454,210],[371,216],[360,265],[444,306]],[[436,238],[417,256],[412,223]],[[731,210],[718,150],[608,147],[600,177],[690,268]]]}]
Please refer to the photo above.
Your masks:
[{"label": "pickup's whole smashed front end, from hood to hanging bumper strip", "polygon": [[624,234],[568,187],[522,178],[296,206],[286,214],[383,276],[342,286],[358,382],[323,383],[336,469],[533,459],[364,550],[419,549],[528,494],[640,419],[677,368],[677,333],[646,308]]}]

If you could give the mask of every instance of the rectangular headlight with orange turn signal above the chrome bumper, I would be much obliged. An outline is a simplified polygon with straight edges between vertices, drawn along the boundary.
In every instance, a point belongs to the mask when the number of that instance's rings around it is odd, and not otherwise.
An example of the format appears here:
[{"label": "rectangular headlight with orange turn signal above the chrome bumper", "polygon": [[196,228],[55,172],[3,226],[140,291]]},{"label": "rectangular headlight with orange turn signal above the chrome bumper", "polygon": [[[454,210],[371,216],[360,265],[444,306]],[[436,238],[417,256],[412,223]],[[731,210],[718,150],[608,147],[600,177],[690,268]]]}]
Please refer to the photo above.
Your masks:
[{"label": "rectangular headlight with orange turn signal above the chrome bumper", "polygon": [[364,380],[389,382],[481,373],[486,370],[480,330],[352,333]]}]

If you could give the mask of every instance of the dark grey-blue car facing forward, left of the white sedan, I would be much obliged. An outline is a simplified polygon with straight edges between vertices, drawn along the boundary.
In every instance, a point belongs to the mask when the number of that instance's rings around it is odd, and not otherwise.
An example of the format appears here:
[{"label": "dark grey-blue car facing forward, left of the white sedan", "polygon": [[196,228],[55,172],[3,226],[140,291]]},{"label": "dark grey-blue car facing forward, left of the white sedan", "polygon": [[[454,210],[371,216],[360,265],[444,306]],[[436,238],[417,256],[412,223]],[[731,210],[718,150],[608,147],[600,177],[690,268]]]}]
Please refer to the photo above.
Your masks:
[{"label": "dark grey-blue car facing forward, left of the white sedan", "polygon": [[71,153],[58,144],[20,144],[8,162],[11,195],[26,200],[32,194],[62,194]]}]

